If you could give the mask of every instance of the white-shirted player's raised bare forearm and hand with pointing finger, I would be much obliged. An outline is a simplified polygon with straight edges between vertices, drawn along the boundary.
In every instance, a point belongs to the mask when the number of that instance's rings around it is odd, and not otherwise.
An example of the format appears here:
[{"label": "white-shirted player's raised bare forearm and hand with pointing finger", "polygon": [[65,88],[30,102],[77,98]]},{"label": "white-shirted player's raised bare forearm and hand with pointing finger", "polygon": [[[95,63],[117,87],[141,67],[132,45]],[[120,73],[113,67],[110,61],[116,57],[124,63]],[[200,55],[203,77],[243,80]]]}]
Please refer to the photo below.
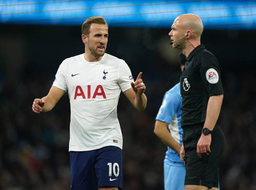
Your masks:
[{"label": "white-shirted player's raised bare forearm and hand with pointing finger", "polygon": [[124,92],[130,103],[132,103],[133,107],[137,110],[144,110],[147,106],[147,97],[144,94],[146,86],[143,83],[141,76],[142,72],[139,73],[135,82],[131,82],[132,88]]}]

